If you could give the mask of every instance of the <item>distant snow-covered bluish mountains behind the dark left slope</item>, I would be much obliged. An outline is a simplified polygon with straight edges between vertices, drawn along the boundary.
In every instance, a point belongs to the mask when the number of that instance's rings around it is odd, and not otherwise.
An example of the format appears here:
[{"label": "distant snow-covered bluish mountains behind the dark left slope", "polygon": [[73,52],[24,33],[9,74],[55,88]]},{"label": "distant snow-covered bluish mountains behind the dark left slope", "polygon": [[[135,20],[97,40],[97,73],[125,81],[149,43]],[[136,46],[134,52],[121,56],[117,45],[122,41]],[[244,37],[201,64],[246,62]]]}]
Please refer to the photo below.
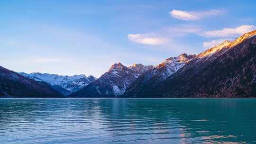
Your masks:
[{"label": "distant snow-covered bluish mountains behind the dark left slope", "polygon": [[96,80],[96,78],[92,75],[87,77],[84,74],[73,76],[63,76],[39,72],[20,72],[19,74],[27,78],[34,79],[36,81],[45,81],[48,84],[50,84],[55,90],[63,93],[64,95],[68,95],[75,91],[81,90],[83,87],[87,86],[91,81]]}]

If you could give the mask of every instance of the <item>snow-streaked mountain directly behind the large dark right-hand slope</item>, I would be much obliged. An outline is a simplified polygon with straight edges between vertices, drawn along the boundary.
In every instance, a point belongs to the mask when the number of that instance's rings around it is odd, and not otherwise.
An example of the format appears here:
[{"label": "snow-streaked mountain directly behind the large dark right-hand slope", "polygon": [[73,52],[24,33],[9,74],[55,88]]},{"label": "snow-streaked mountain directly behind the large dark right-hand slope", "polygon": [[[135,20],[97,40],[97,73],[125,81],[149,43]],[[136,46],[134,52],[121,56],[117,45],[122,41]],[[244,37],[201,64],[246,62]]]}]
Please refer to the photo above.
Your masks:
[{"label": "snow-streaked mountain directly behind the large dark right-hand slope", "polygon": [[124,96],[135,96],[151,89],[155,85],[165,81],[165,79],[177,72],[186,63],[191,61],[195,55],[181,54],[177,57],[170,57],[163,63],[143,73],[135,82],[133,82],[124,93]]}]

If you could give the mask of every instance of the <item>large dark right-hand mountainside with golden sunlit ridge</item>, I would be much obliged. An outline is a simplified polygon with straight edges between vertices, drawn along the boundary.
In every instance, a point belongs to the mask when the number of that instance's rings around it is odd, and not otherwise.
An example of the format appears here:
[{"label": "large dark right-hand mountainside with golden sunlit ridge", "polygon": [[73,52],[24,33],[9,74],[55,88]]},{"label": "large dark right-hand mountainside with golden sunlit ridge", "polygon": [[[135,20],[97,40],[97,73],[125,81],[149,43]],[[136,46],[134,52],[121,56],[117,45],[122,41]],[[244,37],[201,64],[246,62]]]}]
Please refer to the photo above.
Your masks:
[{"label": "large dark right-hand mountainside with golden sunlit ridge", "polygon": [[256,31],[198,54],[146,95],[256,97]]}]

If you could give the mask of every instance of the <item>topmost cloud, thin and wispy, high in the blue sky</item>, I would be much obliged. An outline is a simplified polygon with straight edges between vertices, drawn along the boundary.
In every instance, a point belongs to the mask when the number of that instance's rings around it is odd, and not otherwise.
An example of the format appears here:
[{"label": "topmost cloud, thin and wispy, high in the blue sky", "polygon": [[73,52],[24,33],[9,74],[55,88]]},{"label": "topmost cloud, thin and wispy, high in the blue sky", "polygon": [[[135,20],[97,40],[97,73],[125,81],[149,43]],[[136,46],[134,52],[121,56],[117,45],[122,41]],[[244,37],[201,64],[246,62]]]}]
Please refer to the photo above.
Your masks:
[{"label": "topmost cloud, thin and wispy, high in the blue sky", "polygon": [[222,12],[221,10],[216,10],[216,9],[212,9],[208,11],[182,11],[182,10],[174,9],[169,13],[174,18],[191,21],[191,20],[201,19],[206,16],[218,15],[221,12]]}]

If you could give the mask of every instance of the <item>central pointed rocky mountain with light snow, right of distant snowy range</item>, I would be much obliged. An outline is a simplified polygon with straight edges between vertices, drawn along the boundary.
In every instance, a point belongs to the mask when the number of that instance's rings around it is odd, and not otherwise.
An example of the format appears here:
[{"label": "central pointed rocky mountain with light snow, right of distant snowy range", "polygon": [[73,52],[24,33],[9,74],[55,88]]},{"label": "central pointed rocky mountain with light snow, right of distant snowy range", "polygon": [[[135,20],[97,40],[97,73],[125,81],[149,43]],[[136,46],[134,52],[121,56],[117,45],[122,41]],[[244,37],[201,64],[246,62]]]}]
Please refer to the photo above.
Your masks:
[{"label": "central pointed rocky mountain with light snow, right of distant snowy range", "polygon": [[151,68],[153,68],[153,66],[133,64],[132,66],[126,67],[121,63],[115,63],[110,67],[109,71],[104,73],[99,79],[92,81],[85,88],[71,94],[71,96],[120,96],[132,82]]}]

